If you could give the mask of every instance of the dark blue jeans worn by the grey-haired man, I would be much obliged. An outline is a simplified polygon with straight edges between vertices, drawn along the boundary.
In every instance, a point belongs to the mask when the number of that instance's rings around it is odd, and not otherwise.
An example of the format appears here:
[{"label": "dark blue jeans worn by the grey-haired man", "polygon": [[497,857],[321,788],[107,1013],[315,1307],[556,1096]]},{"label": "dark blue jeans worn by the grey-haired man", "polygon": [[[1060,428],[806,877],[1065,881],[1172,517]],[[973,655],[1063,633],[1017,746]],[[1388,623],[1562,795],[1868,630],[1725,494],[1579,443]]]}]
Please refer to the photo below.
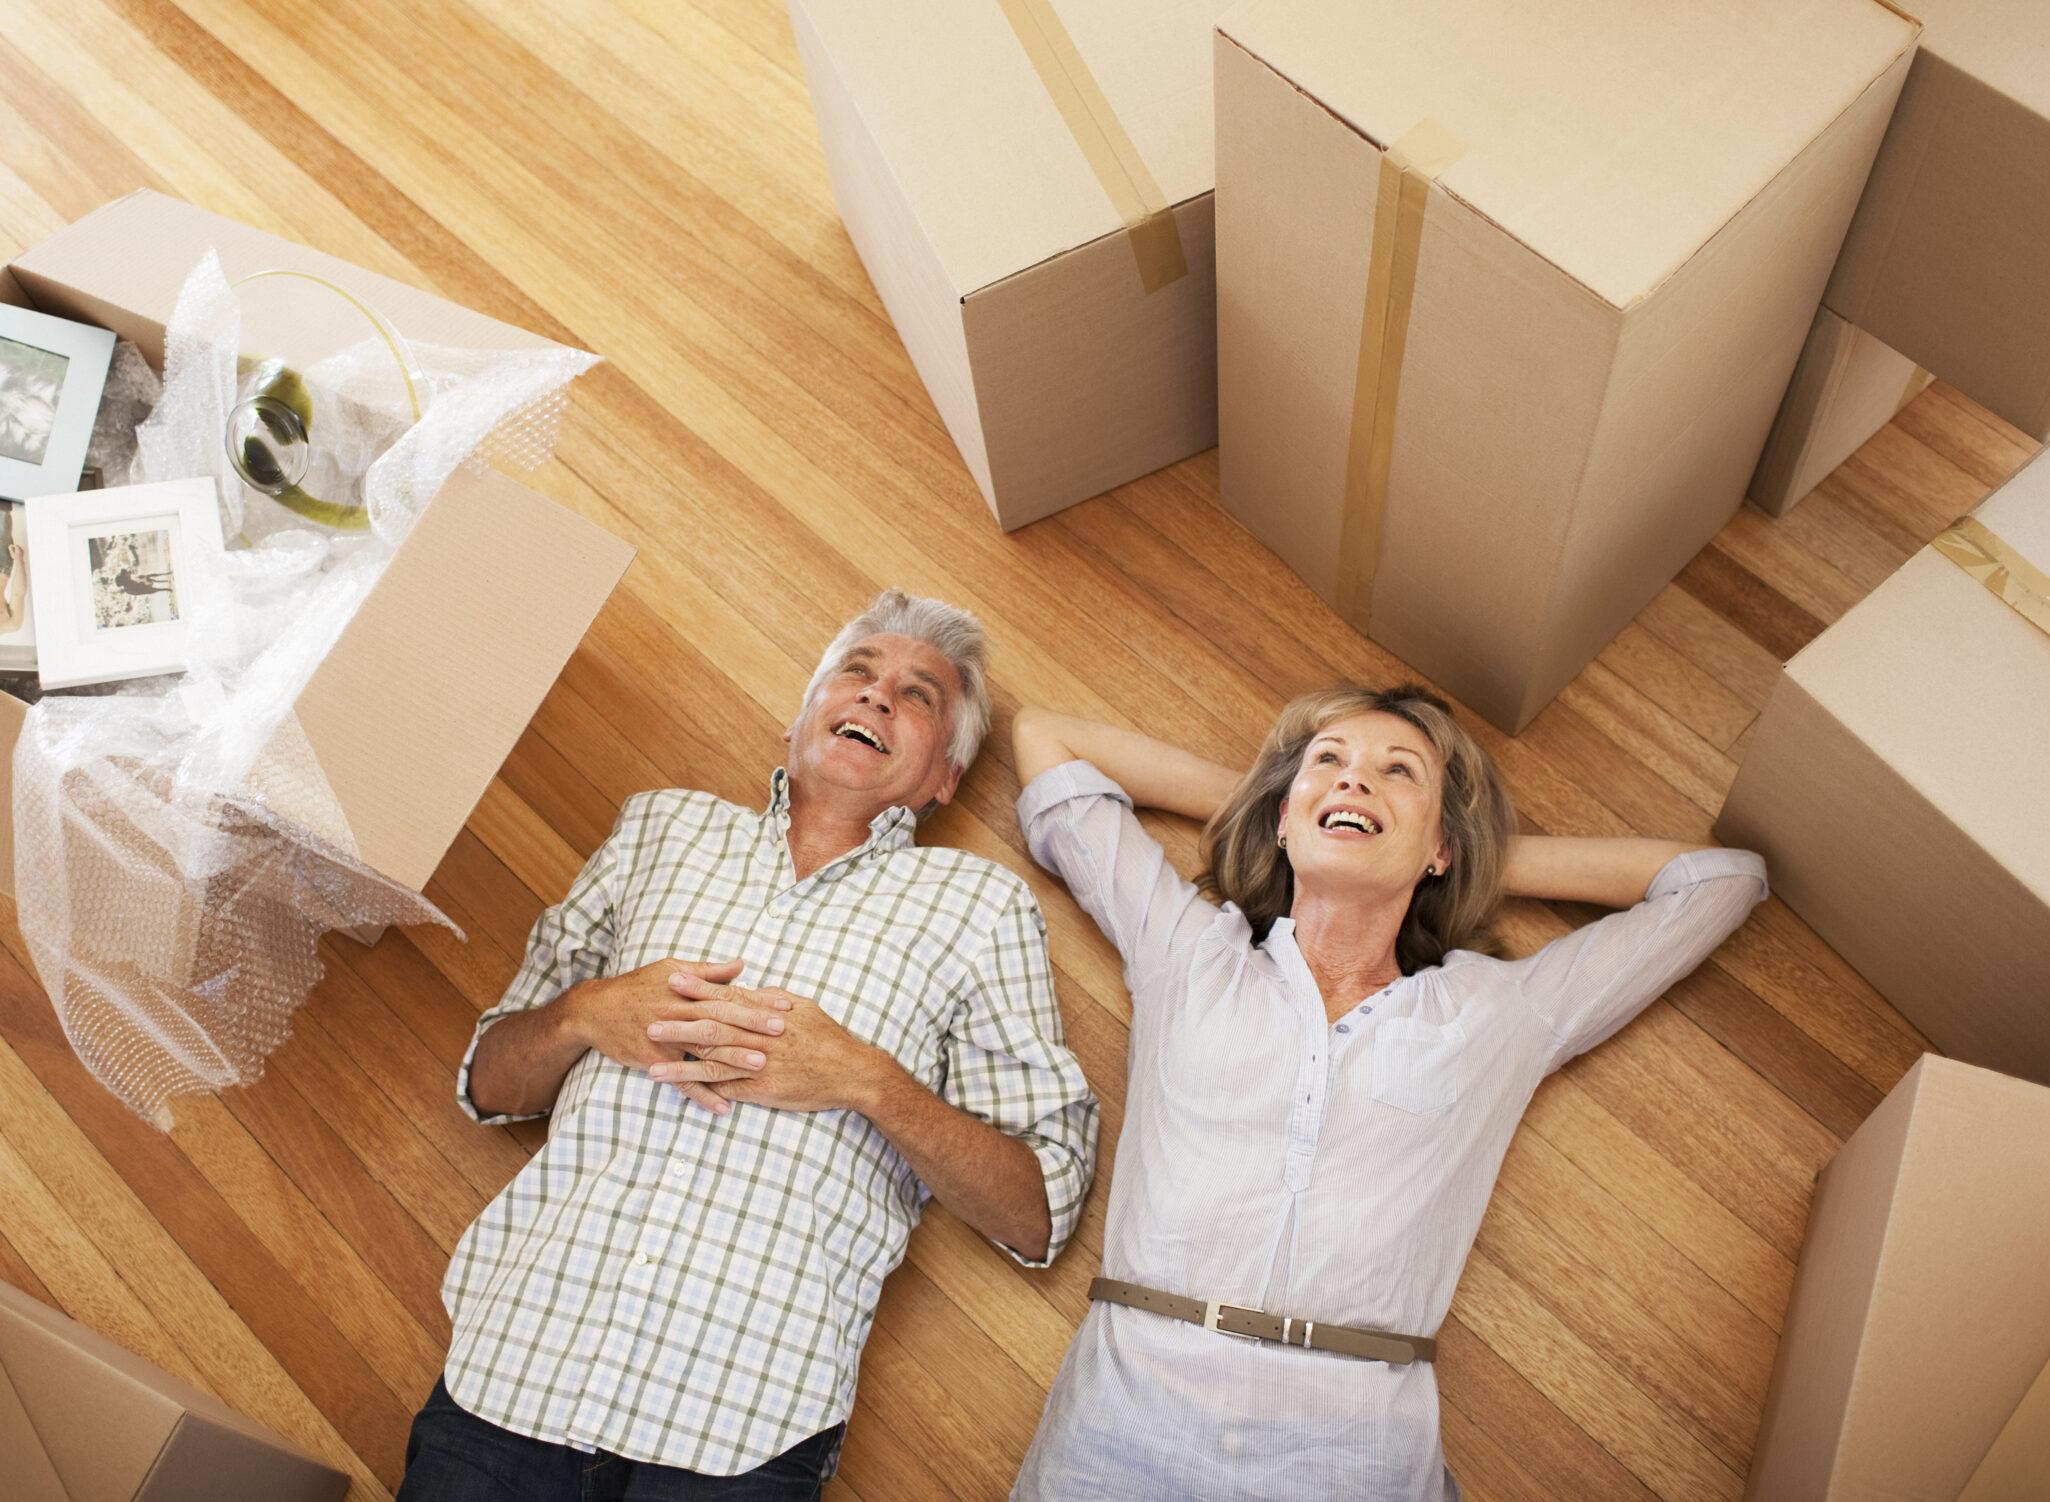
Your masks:
[{"label": "dark blue jeans worn by the grey-haired man", "polygon": [[845,1428],[740,1475],[701,1475],[515,1434],[459,1408],[437,1379],[412,1420],[398,1502],[816,1502]]}]

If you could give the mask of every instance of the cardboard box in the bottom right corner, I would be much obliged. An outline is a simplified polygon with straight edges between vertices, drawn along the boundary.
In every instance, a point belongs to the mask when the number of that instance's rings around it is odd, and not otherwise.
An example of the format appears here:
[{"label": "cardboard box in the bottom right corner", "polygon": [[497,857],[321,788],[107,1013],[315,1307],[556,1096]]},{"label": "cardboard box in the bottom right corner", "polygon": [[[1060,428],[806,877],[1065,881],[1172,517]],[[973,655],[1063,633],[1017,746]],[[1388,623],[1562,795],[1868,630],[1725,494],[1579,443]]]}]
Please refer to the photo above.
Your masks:
[{"label": "cardboard box in the bottom right corner", "polygon": [[2050,1357],[2046,1248],[2050,1090],[1925,1053],[1816,1182],[1745,1496],[1956,1502]]}]

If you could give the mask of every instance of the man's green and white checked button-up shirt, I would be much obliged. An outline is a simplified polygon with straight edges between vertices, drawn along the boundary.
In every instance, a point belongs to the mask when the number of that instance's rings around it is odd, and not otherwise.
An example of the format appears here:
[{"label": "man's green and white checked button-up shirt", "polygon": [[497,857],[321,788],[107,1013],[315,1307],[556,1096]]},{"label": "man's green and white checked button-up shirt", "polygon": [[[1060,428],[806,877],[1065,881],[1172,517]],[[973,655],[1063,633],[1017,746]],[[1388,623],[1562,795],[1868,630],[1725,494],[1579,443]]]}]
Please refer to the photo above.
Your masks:
[{"label": "man's green and white checked button-up shirt", "polygon": [[[1062,1043],[1031,889],[912,844],[902,807],[793,881],[787,809],[781,770],[767,813],[707,793],[627,799],[478,1037],[594,975],[738,955],[740,984],[816,998],[945,1100],[1025,1139],[1046,1172],[1052,1260],[1089,1188],[1097,1102]],[[455,1088],[476,1117],[471,1057],[476,1041]],[[449,1393],[533,1438],[748,1471],[853,1410],[875,1299],[927,1199],[853,1111],[713,1117],[586,1053],[547,1148],[455,1248]]]}]

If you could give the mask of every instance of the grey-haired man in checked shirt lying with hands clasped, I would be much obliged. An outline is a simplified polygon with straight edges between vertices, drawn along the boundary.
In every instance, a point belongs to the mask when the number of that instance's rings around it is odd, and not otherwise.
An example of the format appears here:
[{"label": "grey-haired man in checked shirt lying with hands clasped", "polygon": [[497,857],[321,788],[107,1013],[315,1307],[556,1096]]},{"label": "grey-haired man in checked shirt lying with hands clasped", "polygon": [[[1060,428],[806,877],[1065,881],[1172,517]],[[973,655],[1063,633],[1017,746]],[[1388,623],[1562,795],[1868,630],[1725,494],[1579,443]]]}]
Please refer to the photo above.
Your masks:
[{"label": "grey-haired man in checked shirt lying with hands clasped", "polygon": [[455,1250],[402,1502],[816,1498],[927,1195],[1025,1264],[1068,1240],[1097,1102],[1039,908],[912,844],[988,729],[984,654],[888,590],[765,811],[631,797],[541,914],[457,1094],[551,1133]]}]

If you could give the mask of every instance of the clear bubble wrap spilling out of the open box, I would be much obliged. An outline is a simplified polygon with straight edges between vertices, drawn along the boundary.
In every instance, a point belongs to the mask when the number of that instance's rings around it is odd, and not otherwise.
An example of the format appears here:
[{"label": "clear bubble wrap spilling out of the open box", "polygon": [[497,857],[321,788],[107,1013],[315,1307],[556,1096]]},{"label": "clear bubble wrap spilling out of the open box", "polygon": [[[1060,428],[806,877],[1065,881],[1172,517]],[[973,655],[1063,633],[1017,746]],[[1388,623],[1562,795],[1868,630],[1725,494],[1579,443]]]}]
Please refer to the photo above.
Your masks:
[{"label": "clear bubble wrap spilling out of the open box", "polygon": [[[293,715],[299,691],[461,463],[539,463],[580,350],[410,346],[410,422],[381,340],[303,371],[316,410],[398,439],[361,471],[367,533],[336,537],[228,463],[240,305],[209,254],[166,328],[164,391],[109,484],[213,475],[230,551],[187,617],[189,670],[45,695],[14,748],[20,930],[86,1068],[158,1127],[170,1100],[250,1084],[320,982],[330,928],[449,920],[357,859]],[[256,350],[260,352],[260,350]],[[398,418],[394,422],[394,418]],[[318,436],[318,434],[316,434]],[[332,443],[346,443],[338,428]],[[365,455],[367,457],[367,455]]]}]

